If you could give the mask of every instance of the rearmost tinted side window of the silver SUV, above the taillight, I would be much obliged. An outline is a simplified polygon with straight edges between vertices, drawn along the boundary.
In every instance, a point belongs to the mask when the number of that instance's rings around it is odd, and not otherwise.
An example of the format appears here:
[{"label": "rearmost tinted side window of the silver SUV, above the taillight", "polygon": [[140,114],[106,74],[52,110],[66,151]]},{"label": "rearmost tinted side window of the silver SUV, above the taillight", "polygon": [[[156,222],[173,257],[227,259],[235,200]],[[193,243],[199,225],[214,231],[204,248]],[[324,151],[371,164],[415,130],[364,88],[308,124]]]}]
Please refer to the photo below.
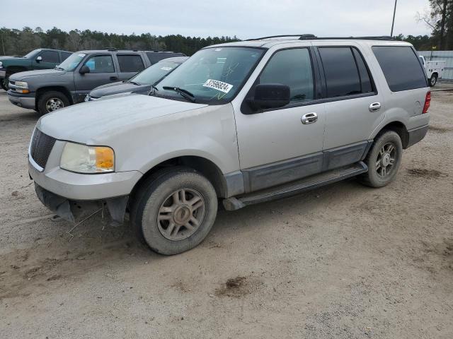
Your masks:
[{"label": "rearmost tinted side window of the silver SUV, above the taillight", "polygon": [[374,46],[372,50],[392,92],[428,87],[425,72],[411,47]]}]

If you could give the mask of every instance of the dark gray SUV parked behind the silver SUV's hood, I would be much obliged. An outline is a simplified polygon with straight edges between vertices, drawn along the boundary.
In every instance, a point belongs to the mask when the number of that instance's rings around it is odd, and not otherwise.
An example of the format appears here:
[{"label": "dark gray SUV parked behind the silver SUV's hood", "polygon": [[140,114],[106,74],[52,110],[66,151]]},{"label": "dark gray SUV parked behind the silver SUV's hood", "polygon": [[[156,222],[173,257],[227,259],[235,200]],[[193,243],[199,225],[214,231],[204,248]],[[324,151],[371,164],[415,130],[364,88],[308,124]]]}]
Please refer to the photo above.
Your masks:
[{"label": "dark gray SUV parked behind the silver SUV's hood", "polygon": [[168,51],[80,51],[55,69],[14,74],[9,78],[8,99],[13,105],[46,114],[83,102],[100,85],[126,81],[162,59],[184,56]]}]

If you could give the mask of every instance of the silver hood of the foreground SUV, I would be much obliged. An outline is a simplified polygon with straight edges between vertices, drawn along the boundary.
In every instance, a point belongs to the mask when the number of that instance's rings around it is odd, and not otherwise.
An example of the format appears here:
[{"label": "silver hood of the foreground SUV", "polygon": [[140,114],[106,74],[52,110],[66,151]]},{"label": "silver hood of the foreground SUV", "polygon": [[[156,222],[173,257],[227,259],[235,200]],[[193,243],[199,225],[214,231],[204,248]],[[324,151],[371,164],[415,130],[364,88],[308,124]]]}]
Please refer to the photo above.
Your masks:
[{"label": "silver hood of the foreground SUV", "polygon": [[108,145],[130,129],[143,129],[156,118],[199,109],[194,104],[148,95],[127,95],[107,100],[84,102],[46,114],[36,127],[59,140],[88,145]]}]

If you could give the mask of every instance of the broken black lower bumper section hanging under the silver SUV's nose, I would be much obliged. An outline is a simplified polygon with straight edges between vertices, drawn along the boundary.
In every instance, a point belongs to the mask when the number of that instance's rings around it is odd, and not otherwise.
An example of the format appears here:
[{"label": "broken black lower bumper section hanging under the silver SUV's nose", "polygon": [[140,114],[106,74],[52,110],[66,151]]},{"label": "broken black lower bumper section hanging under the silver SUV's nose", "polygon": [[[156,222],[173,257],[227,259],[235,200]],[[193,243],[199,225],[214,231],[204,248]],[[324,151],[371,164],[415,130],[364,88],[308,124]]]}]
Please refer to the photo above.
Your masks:
[{"label": "broken black lower bumper section hanging under the silver SUV's nose", "polygon": [[129,196],[94,201],[74,201],[47,191],[36,183],[35,191],[44,206],[69,222],[75,222],[80,215],[86,215],[106,207],[110,214],[111,225],[121,225],[124,222],[127,201],[129,201]]}]

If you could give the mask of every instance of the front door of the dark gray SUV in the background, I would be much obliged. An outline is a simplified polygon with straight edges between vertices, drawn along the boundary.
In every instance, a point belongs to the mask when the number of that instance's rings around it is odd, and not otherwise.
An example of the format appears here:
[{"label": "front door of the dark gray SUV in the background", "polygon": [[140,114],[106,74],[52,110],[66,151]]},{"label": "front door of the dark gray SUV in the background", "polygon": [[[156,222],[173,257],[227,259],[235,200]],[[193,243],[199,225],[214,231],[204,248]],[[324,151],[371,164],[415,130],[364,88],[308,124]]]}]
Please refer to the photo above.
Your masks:
[{"label": "front door of the dark gray SUV in the background", "polygon": [[[89,73],[81,74],[82,66],[88,66]],[[117,69],[111,54],[92,54],[74,71],[74,82],[78,95],[86,95],[100,85],[118,81]]]}]

